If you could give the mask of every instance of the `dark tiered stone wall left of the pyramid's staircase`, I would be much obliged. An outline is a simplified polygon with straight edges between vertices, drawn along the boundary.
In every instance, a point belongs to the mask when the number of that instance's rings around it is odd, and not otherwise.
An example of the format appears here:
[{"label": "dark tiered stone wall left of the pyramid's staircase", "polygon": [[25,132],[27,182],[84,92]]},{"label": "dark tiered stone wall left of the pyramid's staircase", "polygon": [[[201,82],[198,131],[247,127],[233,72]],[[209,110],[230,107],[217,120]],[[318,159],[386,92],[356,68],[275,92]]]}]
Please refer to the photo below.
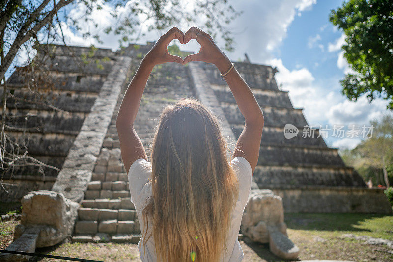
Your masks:
[{"label": "dark tiered stone wall left of the pyramid's staircase", "polygon": [[[53,84],[50,87],[53,91],[44,93],[44,98],[51,105],[67,112],[54,111],[45,105],[21,102],[9,96],[7,108],[11,118],[7,124],[19,129],[27,128],[28,136],[23,135],[23,130],[6,130],[13,140],[26,143],[30,156],[61,169],[85,117],[114,65],[115,56],[109,49],[97,49],[94,55],[88,57],[89,48],[58,45],[49,48],[54,49],[52,52],[56,54],[55,57],[44,55],[46,49],[43,47],[34,58],[47,66],[47,79],[50,85]],[[81,58],[83,54],[87,56],[84,59]],[[14,95],[19,98],[35,98],[32,92],[28,91],[26,81],[18,73],[18,68],[7,80],[7,88],[14,90]],[[0,95],[2,92],[1,88]],[[15,117],[26,113],[31,114],[26,120]],[[22,140],[22,137],[25,139]],[[17,201],[32,190],[50,190],[59,171],[46,167],[43,167],[43,171],[45,176],[39,173],[36,166],[25,166],[16,168],[13,173],[4,174],[4,183],[14,185],[7,187],[10,193],[0,191],[1,201]]]}]

